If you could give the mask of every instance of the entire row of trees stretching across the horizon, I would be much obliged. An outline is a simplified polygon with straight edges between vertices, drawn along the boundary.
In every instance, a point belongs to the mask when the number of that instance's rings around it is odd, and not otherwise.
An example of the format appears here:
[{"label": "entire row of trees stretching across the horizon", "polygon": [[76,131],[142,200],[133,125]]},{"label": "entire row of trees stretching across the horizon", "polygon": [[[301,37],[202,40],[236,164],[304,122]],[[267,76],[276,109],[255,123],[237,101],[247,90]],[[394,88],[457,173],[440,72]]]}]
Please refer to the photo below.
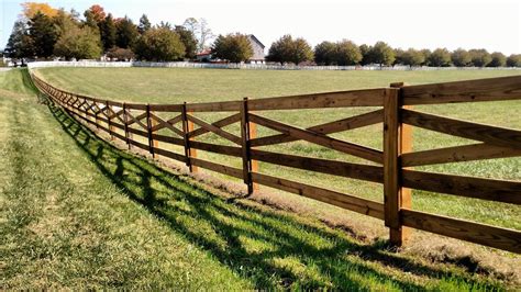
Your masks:
[{"label": "entire row of trees stretching across the horizon", "polygon": [[[146,14],[137,24],[128,16],[114,18],[95,4],[80,20],[76,11],[66,12],[45,3],[23,3],[23,16],[13,26],[5,53],[13,58],[95,59],[101,55],[115,59],[170,61],[193,59],[197,52],[210,48],[215,59],[241,63],[253,56],[246,34],[233,33],[214,38],[204,19],[187,19],[182,25],[160,22],[152,25]],[[506,56],[484,48],[450,52],[446,48],[407,50],[385,42],[357,45],[352,41],[322,42],[314,48],[302,37],[284,35],[271,44],[267,61],[323,66],[432,66],[432,67],[521,67],[521,54]]]}]

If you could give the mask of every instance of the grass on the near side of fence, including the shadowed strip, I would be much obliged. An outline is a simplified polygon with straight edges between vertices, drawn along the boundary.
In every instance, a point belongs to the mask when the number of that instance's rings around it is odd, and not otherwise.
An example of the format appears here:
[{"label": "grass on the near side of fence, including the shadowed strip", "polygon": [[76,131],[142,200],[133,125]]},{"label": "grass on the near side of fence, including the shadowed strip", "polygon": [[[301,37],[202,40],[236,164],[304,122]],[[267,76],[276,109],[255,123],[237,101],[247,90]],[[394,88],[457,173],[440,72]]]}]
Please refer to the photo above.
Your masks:
[{"label": "grass on the near side of fence, including the shadowed strip", "polygon": [[[21,76],[0,78],[10,78],[12,90]],[[100,142],[34,94],[11,90],[0,91],[2,289],[508,284],[203,191]]]}]

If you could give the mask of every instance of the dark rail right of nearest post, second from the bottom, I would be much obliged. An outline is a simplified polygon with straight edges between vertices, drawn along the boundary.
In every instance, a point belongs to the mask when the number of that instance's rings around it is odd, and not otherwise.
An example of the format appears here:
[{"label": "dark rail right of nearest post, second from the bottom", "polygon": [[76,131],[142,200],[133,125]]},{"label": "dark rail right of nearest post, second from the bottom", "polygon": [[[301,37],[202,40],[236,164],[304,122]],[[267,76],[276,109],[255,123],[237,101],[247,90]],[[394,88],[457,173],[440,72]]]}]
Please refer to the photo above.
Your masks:
[{"label": "dark rail right of nearest post, second from the bottom", "polygon": [[488,201],[521,204],[521,181],[402,171],[403,187]]}]

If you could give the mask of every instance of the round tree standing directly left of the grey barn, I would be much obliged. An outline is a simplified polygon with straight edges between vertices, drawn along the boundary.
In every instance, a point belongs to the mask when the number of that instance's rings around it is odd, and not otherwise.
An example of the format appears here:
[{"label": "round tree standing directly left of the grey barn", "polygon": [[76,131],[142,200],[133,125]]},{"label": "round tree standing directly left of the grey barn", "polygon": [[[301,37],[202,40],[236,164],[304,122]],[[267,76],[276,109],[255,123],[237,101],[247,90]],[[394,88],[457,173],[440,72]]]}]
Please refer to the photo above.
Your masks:
[{"label": "round tree standing directly left of the grey barn", "polygon": [[231,63],[246,61],[253,56],[252,44],[245,34],[219,35],[213,42],[212,54]]}]

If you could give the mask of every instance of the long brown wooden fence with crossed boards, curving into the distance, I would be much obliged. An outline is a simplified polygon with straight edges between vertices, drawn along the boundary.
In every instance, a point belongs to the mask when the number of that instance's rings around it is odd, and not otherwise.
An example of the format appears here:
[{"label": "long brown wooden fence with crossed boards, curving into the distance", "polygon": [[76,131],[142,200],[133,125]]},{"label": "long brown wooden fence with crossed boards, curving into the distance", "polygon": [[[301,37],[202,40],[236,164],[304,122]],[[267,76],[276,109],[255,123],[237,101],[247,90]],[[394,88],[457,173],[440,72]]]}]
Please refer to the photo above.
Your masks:
[{"label": "long brown wooden fence with crossed boards, curving into the distance", "polygon": [[[281,98],[212,103],[141,104],[101,100],[57,89],[32,74],[36,87],[77,120],[95,125],[112,137],[151,155],[181,161],[240,178],[252,193],[257,184],[297,193],[383,220],[390,242],[402,245],[410,228],[459,238],[521,254],[521,232],[411,209],[411,189],[480,200],[521,203],[521,182],[442,175],[412,170],[411,167],[456,161],[521,156],[521,131],[448,119],[413,110],[412,105],[521,99],[521,76],[423,86],[393,83],[389,88],[329,92]],[[259,115],[266,111],[379,106],[357,116],[300,128]],[[224,112],[229,116],[209,123],[195,113]],[[168,114],[168,117],[164,117]],[[163,117],[160,117],[160,116]],[[241,135],[225,126],[240,123]],[[330,137],[329,134],[383,123],[384,150]],[[279,134],[256,137],[256,125]],[[422,127],[478,141],[465,146],[412,151],[411,127]],[[517,125],[519,126],[519,125]],[[169,135],[157,133],[168,130]],[[196,138],[213,133],[234,146],[217,145]],[[141,137],[147,144],[134,138]],[[258,149],[260,146],[306,141],[372,164],[353,164],[287,155]],[[158,143],[184,148],[178,154]],[[242,158],[242,169],[197,158],[197,150]],[[384,202],[340,193],[258,172],[256,161],[328,173],[384,184]]]}]

